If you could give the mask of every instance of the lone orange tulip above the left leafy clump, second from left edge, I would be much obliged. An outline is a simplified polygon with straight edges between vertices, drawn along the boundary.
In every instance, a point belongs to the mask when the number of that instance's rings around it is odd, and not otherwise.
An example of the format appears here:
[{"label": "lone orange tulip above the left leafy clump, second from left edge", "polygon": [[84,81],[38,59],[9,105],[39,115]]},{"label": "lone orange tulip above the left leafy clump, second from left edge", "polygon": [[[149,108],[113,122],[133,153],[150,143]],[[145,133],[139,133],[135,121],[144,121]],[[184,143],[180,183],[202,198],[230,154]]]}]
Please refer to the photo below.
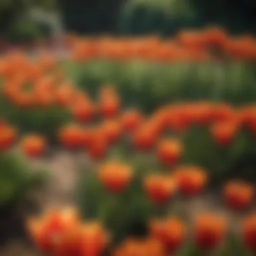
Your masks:
[{"label": "lone orange tulip above the left leafy clump, second from left edge", "polygon": [[40,135],[29,134],[21,139],[20,147],[27,156],[39,156],[45,150],[46,139]]}]

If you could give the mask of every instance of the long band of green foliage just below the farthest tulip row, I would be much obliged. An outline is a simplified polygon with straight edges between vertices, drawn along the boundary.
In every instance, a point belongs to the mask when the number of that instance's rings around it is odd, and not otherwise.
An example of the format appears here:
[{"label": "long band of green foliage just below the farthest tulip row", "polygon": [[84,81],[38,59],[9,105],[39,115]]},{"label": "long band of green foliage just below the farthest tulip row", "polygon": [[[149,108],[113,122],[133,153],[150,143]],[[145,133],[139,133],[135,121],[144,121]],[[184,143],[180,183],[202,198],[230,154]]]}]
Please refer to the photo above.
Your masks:
[{"label": "long band of green foliage just below the farthest tulip row", "polygon": [[[235,105],[256,100],[255,66],[245,62],[124,62],[89,60],[63,63],[75,84],[95,94],[103,83],[113,83],[124,106],[153,110],[176,100],[226,100]],[[143,100],[141,100],[143,98]]]}]

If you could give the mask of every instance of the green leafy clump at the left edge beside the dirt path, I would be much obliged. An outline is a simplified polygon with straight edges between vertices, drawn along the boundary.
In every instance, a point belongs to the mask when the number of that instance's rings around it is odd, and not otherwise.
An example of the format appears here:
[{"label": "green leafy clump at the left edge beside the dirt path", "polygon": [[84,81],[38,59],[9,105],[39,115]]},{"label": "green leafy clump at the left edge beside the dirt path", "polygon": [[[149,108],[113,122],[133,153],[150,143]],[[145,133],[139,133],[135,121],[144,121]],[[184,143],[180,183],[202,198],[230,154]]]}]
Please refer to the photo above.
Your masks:
[{"label": "green leafy clump at the left edge beside the dirt path", "polygon": [[0,208],[20,202],[43,178],[42,173],[30,171],[18,152],[0,152]]}]

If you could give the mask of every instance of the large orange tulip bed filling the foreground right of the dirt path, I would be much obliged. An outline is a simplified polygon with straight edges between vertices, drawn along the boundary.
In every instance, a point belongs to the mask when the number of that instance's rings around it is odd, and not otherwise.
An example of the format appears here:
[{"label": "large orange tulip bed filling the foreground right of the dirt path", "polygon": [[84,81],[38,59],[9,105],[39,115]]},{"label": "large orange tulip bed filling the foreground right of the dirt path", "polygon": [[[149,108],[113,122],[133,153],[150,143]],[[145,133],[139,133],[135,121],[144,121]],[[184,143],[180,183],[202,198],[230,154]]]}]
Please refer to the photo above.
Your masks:
[{"label": "large orange tulip bed filling the foreground right of the dirt path", "polygon": [[[250,148],[255,135],[254,106],[183,102],[144,116],[120,104],[113,87],[101,87],[90,124],[59,130],[63,146],[87,151],[93,164],[78,176],[77,211],[52,209],[28,219],[37,248],[53,255],[254,253],[254,213],[237,224],[237,233],[212,212],[201,212],[191,226],[175,207],[178,196],[189,200],[218,180],[227,207],[251,208],[253,175],[250,182],[230,176],[237,161],[248,159],[243,146]],[[239,138],[242,130],[248,140]]]}]

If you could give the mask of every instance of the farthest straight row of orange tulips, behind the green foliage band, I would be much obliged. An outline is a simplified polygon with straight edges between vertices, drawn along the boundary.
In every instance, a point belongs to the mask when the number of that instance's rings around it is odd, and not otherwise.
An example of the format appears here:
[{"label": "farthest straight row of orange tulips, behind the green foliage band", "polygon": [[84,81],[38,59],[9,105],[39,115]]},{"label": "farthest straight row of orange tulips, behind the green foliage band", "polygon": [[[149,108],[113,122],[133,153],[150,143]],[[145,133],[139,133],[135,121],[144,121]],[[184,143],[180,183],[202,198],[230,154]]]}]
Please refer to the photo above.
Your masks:
[{"label": "farthest straight row of orange tulips, behind the green foliage band", "polygon": [[253,36],[245,34],[233,37],[218,27],[181,30],[174,38],[164,39],[153,35],[140,38],[69,36],[67,40],[71,45],[71,58],[79,62],[95,57],[115,60],[139,58],[159,62],[206,61],[216,57],[253,61],[256,58],[256,40]]}]

